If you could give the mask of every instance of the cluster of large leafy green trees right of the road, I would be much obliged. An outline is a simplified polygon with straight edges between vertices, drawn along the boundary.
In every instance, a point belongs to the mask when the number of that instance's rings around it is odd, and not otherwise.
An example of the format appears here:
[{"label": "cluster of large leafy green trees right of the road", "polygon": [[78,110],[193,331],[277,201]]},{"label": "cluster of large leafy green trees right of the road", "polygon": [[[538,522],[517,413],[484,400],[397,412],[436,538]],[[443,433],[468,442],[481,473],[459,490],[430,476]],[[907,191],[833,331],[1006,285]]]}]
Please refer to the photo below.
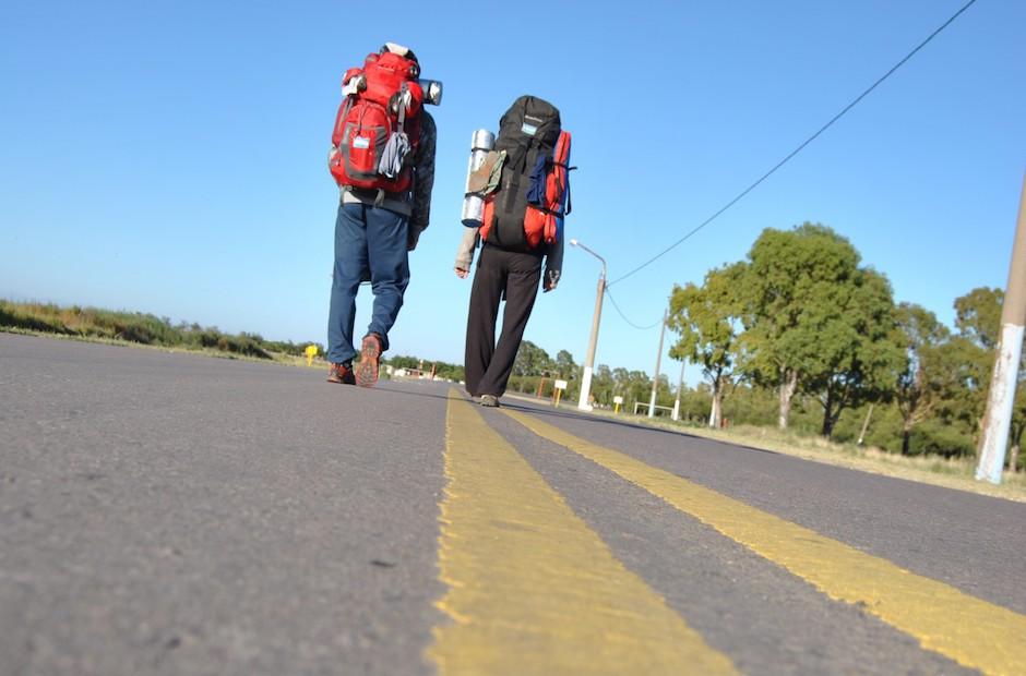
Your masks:
[{"label": "cluster of large leafy green trees right of the road", "polygon": [[[796,398],[819,410],[825,437],[846,412],[869,419],[879,408],[900,421],[900,452],[971,455],[1002,301],[987,288],[955,299],[952,331],[921,305],[896,303],[886,276],[846,238],[807,222],[766,229],[745,259],[709,270],[701,285],[675,286],[671,354],[702,369],[711,425],[725,398],[747,387],[775,395],[780,428]],[[1017,452],[1026,409],[1016,412]]]}]

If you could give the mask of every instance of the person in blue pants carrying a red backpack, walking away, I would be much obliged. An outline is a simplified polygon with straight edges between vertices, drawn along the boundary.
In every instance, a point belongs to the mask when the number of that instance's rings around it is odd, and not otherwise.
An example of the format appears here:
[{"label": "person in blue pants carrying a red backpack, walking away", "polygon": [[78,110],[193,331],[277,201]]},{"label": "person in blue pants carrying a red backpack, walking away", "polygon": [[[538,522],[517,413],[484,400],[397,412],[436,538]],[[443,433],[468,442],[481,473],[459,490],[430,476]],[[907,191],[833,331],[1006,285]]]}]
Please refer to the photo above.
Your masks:
[{"label": "person in blue pants carrying a red backpack, walking away", "polygon": [[[327,317],[329,383],[371,387],[378,382],[381,353],[389,349],[389,330],[409,283],[408,252],[428,227],[437,132],[423,110],[419,75],[413,50],[387,43],[343,79],[345,100],[329,153],[342,192]],[[440,98],[441,84],[428,84]],[[370,281],[374,304],[354,367],[361,281]]]}]

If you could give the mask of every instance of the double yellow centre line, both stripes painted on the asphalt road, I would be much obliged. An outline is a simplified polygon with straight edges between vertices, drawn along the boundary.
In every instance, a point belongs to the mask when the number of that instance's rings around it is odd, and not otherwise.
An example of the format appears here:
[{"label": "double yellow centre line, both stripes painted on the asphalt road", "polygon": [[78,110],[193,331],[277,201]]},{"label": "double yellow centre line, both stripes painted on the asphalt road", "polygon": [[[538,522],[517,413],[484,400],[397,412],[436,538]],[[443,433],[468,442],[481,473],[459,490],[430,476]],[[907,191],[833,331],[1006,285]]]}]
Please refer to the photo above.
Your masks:
[{"label": "double yellow centre line, both stripes painted on the asphalt road", "polygon": [[[1026,672],[1026,617],[836,540],[503,410],[923,648],[987,674]],[[727,674],[730,660],[618,562],[480,414],[450,394],[429,656],[449,674]]]}]

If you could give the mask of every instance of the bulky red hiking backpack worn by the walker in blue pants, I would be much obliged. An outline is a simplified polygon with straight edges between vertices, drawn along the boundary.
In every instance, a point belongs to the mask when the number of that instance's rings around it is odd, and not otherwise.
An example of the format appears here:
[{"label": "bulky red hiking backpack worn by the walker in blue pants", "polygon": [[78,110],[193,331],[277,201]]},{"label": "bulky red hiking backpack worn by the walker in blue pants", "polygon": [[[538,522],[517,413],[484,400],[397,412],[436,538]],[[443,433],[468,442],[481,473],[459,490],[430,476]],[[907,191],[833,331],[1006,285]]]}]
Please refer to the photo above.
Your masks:
[{"label": "bulky red hiking backpack worn by the walker in blue pants", "polygon": [[343,77],[327,166],[338,185],[386,193],[409,190],[420,143],[423,90],[414,59],[382,49]]}]

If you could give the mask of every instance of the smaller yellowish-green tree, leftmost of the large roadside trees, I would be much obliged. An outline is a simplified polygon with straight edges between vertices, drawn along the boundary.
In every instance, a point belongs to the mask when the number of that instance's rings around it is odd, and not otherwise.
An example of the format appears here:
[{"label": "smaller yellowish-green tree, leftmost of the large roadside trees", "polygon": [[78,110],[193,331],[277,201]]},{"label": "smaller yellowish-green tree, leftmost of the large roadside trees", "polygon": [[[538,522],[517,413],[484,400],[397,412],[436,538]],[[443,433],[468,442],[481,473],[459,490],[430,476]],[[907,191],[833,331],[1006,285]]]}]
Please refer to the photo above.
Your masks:
[{"label": "smaller yellowish-green tree, leftmost of the large roadside trees", "polygon": [[719,427],[724,397],[735,382],[738,327],[740,325],[739,280],[743,263],[709,270],[701,287],[675,286],[670,295],[670,329],[680,335],[670,348],[673,359],[688,359],[702,367],[713,402],[709,427]]}]

